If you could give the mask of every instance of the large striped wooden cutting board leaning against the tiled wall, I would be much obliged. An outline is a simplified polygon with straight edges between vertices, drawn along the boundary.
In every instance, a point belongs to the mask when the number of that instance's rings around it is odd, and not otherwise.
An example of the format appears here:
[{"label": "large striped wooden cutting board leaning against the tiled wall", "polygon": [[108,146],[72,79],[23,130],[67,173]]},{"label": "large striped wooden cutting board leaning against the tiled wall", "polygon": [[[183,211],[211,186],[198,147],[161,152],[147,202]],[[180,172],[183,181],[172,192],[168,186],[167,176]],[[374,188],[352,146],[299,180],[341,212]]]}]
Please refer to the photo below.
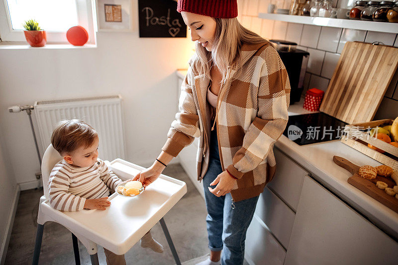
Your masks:
[{"label": "large striped wooden cutting board leaning against the tiled wall", "polygon": [[398,48],[347,42],[320,111],[348,124],[373,120],[398,66]]}]

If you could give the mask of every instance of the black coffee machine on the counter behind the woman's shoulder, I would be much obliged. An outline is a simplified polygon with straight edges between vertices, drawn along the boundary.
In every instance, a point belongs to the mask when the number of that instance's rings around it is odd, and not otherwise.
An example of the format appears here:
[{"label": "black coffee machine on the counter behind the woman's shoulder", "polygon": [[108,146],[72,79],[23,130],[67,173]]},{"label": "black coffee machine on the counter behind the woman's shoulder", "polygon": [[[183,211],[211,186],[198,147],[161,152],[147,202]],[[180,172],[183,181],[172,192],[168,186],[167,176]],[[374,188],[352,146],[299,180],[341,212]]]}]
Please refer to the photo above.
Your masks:
[{"label": "black coffee machine on the counter behind the woman's shoulder", "polygon": [[284,40],[270,40],[289,75],[290,104],[300,101],[303,90],[304,75],[307,68],[309,53],[296,49],[297,43]]}]

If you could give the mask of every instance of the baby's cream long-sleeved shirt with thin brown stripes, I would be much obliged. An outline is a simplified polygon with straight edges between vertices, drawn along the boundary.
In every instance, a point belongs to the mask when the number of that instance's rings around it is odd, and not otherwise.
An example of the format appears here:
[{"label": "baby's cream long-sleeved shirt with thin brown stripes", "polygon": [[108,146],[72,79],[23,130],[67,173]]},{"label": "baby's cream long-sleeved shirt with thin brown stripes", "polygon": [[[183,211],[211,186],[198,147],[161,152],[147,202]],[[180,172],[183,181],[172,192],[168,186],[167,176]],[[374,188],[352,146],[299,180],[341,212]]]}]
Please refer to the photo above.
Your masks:
[{"label": "baby's cream long-sleeved shirt with thin brown stripes", "polygon": [[62,159],[48,180],[50,204],[61,211],[83,210],[86,199],[106,197],[109,189],[114,191],[121,182],[100,159],[85,168],[73,167]]}]

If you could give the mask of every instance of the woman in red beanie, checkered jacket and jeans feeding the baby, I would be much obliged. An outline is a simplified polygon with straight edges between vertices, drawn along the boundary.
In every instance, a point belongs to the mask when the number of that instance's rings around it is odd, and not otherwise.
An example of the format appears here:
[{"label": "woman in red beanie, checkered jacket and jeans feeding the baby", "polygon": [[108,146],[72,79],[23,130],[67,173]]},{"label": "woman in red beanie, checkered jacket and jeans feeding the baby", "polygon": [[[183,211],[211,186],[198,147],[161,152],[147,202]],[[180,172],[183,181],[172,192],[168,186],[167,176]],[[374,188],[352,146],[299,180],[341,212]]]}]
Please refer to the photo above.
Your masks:
[{"label": "woman in red beanie, checkered jacket and jeans feeding the baby", "polygon": [[149,185],[200,137],[197,172],[210,249],[202,264],[239,265],[258,196],[275,174],[273,143],[288,121],[289,78],[273,46],[239,24],[236,0],[178,0],[177,10],[196,54],[168,140],[134,179]]}]

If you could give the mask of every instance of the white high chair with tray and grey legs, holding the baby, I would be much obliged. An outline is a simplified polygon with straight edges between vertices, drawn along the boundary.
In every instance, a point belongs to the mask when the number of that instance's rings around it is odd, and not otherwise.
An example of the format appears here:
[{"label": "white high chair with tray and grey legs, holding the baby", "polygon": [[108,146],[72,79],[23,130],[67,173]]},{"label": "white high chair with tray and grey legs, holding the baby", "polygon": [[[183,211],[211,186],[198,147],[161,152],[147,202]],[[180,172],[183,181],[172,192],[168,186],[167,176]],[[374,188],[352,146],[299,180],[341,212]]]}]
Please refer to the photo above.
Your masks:
[{"label": "white high chair with tray and grey legs, holding the baby", "polygon": [[[50,144],[43,155],[41,166],[44,195],[40,198],[37,216],[33,265],[37,265],[39,261],[44,223],[47,221],[57,222],[72,232],[75,263],[79,265],[77,239],[86,247],[91,263],[99,265],[97,245],[117,255],[125,254],[159,221],[174,260],[177,265],[181,265],[163,216],[187,193],[185,182],[160,175],[137,197],[124,198],[116,193],[112,194],[109,196],[111,205],[106,210],[59,211],[49,203],[48,179],[54,165],[61,159]],[[106,162],[109,169],[122,180],[131,179],[132,175],[144,169],[122,159]]]}]

